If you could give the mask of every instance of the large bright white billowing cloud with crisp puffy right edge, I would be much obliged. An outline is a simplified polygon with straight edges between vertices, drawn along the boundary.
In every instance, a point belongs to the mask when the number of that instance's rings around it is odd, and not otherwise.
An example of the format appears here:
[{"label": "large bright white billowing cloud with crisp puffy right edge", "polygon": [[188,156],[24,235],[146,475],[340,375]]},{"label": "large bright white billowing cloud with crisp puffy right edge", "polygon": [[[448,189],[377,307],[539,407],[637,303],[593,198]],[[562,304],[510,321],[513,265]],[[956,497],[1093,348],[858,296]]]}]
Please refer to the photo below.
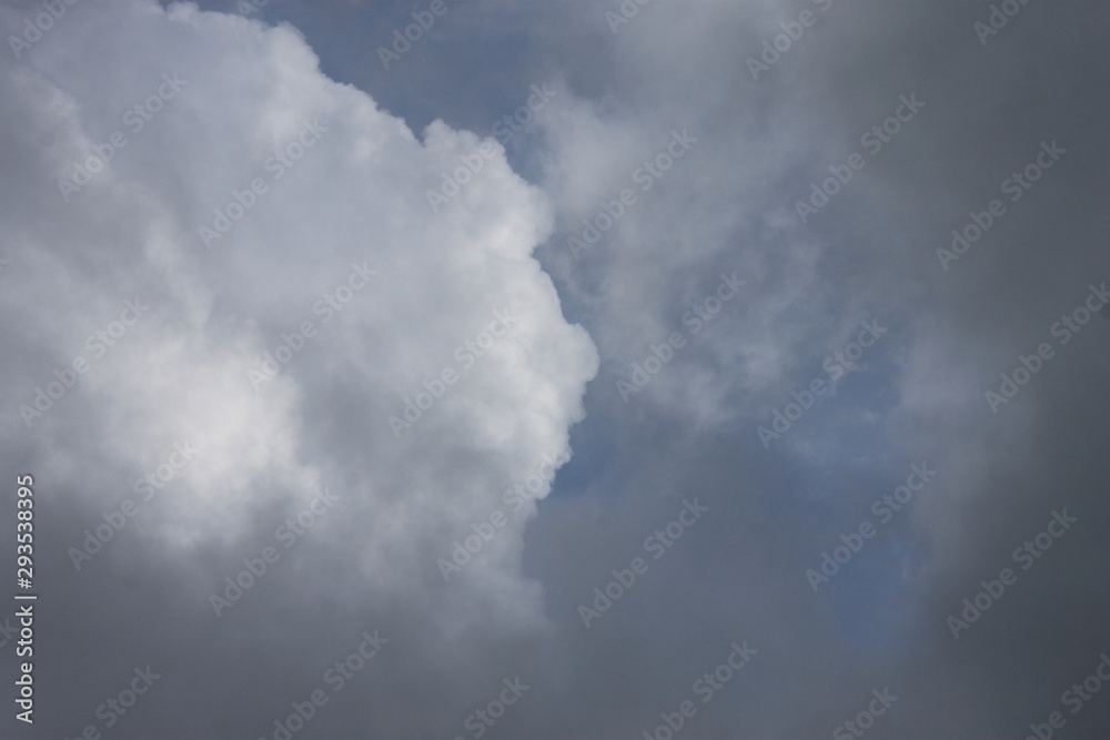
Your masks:
[{"label": "large bright white billowing cloud with crisp puffy right edge", "polygon": [[[2,12],[18,29],[22,13]],[[546,197],[501,145],[438,121],[417,136],[323,75],[291,27],[189,4],[82,3],[0,64],[2,150],[19,152],[0,206],[13,225],[0,293],[6,444],[30,445],[21,465],[72,505],[65,547],[103,524],[98,511],[139,507],[131,545],[120,535],[80,572],[54,558],[60,581],[90,588],[142,543],[179,565],[215,564],[210,582],[194,574],[174,597],[214,620],[205,597],[220,574],[326,488],[334,514],[285,560],[342,571],[319,582],[356,579],[360,605],[390,605],[383,632],[406,620],[541,629],[541,592],[519,564],[528,511],[465,586],[436,568],[544,455],[569,453],[597,368],[532,255],[552,229]],[[483,170],[431,214],[425,191],[482,146],[493,151]],[[82,169],[87,182],[63,193],[59,180]],[[125,301],[147,306],[127,325]],[[107,339],[85,341],[97,332]],[[20,407],[78,356],[72,387],[24,423]],[[395,434],[406,399],[420,418]],[[195,457],[159,480],[180,443]],[[149,473],[163,485],[143,501]],[[268,577],[296,567],[279,561]],[[303,608],[260,584],[220,619],[245,618],[251,599]],[[436,642],[408,646],[407,659],[432,661]]]}]

